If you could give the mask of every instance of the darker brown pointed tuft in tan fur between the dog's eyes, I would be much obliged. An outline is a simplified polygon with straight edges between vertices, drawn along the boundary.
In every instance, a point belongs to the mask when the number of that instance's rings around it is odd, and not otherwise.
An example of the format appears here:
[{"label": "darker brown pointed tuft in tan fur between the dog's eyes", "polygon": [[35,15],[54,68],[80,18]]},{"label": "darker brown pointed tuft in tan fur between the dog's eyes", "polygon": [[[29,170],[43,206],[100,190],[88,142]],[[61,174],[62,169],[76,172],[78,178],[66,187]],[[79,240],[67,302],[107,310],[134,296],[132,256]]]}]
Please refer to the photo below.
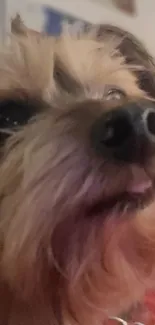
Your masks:
[{"label": "darker brown pointed tuft in tan fur between the dog's eyes", "polygon": [[67,93],[75,94],[82,90],[80,82],[69,74],[58,58],[55,59],[53,76],[58,87]]}]

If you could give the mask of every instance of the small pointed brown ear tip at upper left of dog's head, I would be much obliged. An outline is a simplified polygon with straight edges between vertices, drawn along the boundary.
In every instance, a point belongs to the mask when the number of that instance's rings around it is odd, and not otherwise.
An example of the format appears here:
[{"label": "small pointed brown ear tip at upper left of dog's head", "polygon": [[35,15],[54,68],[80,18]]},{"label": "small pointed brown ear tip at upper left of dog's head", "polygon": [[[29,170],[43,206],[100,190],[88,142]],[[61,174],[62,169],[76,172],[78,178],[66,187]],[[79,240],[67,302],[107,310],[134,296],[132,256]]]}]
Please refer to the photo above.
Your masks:
[{"label": "small pointed brown ear tip at upper left of dog's head", "polygon": [[11,20],[11,33],[19,36],[43,36],[43,33],[27,28],[19,14]]}]

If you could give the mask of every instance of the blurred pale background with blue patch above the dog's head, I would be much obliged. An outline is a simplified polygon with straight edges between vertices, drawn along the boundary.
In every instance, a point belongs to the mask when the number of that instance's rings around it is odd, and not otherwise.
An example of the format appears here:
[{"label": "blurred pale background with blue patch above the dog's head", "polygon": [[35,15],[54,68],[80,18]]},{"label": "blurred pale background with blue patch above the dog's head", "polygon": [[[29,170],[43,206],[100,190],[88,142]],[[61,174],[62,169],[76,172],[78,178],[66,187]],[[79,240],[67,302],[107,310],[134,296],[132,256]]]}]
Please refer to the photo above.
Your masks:
[{"label": "blurred pale background with blue patch above the dog's head", "polygon": [[138,36],[155,53],[155,0],[0,0],[0,37],[20,13],[29,28],[59,34],[66,20],[82,24],[111,23]]}]

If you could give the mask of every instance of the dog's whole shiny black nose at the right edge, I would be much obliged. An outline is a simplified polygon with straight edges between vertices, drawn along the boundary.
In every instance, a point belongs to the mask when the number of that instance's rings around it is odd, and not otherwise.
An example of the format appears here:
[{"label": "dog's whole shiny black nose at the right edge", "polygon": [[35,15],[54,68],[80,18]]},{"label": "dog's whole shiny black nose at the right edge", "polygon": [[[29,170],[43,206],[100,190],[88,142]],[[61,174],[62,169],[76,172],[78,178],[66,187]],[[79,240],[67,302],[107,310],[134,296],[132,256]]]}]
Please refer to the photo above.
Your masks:
[{"label": "dog's whole shiny black nose at the right edge", "polygon": [[104,113],[91,130],[96,152],[119,161],[137,162],[155,151],[155,104],[128,103]]}]

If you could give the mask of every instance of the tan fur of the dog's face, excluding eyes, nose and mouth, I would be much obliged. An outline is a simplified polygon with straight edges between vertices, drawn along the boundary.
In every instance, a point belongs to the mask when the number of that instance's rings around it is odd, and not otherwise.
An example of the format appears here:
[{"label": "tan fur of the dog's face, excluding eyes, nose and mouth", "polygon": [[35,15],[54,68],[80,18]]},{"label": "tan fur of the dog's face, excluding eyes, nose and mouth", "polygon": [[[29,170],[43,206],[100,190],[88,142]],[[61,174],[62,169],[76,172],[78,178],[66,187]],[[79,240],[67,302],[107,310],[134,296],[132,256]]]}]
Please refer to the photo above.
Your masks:
[{"label": "tan fur of the dog's face, excluding eyes, nose and mouth", "polygon": [[[80,91],[59,89],[56,62]],[[100,161],[87,139],[90,124],[112,107],[107,85],[129,100],[146,97],[135,68],[111,41],[85,34],[14,36],[1,50],[1,99],[38,98],[42,113],[2,150],[0,325],[100,325],[154,285],[154,204],[123,218],[117,209],[106,220],[87,215],[131,177],[130,168]]]}]

